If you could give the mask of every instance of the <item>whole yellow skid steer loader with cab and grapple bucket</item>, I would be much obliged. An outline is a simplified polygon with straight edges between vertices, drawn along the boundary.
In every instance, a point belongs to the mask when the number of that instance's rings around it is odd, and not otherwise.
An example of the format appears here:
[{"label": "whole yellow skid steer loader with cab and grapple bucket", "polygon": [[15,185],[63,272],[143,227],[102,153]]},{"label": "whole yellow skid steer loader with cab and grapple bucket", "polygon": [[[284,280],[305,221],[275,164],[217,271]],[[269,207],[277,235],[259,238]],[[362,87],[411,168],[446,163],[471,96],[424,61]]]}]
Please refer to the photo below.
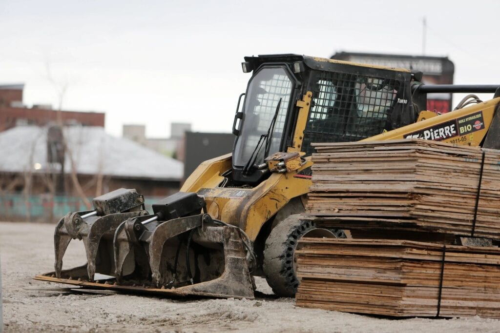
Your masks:
[{"label": "whole yellow skid steer loader with cab and grapple bucket", "polygon": [[[294,54],[244,60],[243,72],[252,76],[237,102],[232,154],[201,163],[179,193],[153,204],[152,214],[125,189],[95,198],[94,211],[69,213],[54,234],[55,271],[36,279],[251,299],[252,276],[263,276],[276,295],[293,296],[298,239],[345,237],[299,219],[311,185],[311,143],[409,136],[497,144],[500,98],[418,118],[428,92],[497,86],[424,86],[421,73],[406,69]],[[87,263],[62,270],[71,239],[83,241]]]}]

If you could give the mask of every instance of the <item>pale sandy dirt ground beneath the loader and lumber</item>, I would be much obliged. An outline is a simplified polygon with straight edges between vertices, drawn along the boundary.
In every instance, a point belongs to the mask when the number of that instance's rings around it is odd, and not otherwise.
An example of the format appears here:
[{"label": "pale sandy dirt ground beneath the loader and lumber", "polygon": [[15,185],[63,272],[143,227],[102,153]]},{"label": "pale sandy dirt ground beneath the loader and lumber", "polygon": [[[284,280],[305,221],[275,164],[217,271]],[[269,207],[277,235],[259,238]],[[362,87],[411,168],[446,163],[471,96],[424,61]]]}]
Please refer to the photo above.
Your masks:
[{"label": "pale sandy dirt ground beneath the loader and lumber", "polygon": [[[0,223],[5,332],[498,332],[500,321],[390,320],[298,308],[293,299],[169,300],[131,295],[36,291],[68,287],[31,280],[53,270],[53,225]],[[70,244],[64,267],[84,263],[83,245]],[[265,280],[258,290],[271,291]]]}]

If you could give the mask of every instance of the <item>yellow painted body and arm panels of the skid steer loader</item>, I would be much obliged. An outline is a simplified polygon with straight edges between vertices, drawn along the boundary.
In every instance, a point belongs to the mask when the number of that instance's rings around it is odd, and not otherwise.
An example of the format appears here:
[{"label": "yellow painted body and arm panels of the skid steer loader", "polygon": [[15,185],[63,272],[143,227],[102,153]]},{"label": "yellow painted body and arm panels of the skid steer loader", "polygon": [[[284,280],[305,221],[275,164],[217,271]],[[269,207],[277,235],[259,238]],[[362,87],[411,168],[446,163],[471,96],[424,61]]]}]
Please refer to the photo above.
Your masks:
[{"label": "yellow painted body and arm panels of the skid steer loader", "polygon": [[[307,100],[307,96],[304,96]],[[299,115],[296,145],[301,143],[308,111],[308,102],[299,101],[304,112]],[[310,103],[310,101],[309,101]],[[500,97],[468,106],[441,115],[421,111],[426,119],[394,129],[361,141],[395,140],[402,138],[424,138],[452,144],[478,146],[491,124]],[[431,116],[433,113],[435,116]],[[291,148],[289,151],[294,151]],[[181,191],[196,192],[205,198],[208,214],[243,229],[254,241],[262,225],[276,214],[291,199],[304,196],[312,184],[309,177],[301,177],[300,171],[310,167],[310,157],[303,165],[286,173],[273,173],[267,180],[254,188],[220,188],[221,174],[231,167],[231,154],[205,161],[187,178]],[[302,200],[306,200],[305,196]]]}]

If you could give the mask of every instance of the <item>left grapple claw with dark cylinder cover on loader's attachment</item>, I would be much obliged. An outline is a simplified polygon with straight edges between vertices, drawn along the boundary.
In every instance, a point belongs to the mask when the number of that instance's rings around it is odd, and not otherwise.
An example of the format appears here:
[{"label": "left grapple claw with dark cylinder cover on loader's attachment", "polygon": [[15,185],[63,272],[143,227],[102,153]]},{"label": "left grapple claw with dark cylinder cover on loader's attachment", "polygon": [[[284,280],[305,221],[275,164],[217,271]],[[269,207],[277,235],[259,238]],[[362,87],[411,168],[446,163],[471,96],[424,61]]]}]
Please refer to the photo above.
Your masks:
[{"label": "left grapple claw with dark cylinder cover on loader's attachment", "polygon": [[[93,280],[96,270],[101,274],[114,274],[112,240],[116,227],[128,218],[147,214],[144,198],[134,189],[118,189],[92,200],[93,211],[68,213],[55,227],[55,277],[61,277],[62,257],[71,239],[83,241],[88,279]],[[81,268],[78,268],[81,270]]]}]

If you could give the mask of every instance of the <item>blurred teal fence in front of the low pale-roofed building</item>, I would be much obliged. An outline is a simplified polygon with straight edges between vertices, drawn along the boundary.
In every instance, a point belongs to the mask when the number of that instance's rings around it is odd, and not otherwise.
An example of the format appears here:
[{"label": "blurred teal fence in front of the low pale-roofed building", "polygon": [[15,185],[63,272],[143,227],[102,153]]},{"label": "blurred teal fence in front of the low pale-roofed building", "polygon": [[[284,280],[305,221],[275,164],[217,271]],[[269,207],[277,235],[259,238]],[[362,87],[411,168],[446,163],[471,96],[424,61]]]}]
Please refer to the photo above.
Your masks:
[{"label": "blurred teal fence in front of the low pale-roofed building", "polygon": [[[87,198],[92,202],[92,198]],[[152,212],[151,204],[161,199],[160,197],[146,197],[146,210]],[[0,194],[0,220],[42,221],[45,219],[59,219],[68,212],[87,210],[84,202],[79,197]],[[47,221],[50,222],[50,221]]]}]

